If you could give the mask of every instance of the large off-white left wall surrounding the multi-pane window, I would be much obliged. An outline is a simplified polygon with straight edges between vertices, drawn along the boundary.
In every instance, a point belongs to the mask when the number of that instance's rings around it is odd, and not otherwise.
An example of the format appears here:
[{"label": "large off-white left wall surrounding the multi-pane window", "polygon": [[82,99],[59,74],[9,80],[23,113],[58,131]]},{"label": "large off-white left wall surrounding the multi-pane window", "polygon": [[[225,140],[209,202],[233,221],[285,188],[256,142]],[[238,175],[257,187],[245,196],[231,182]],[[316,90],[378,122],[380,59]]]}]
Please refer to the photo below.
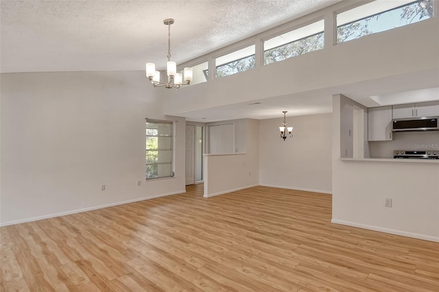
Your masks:
[{"label": "large off-white left wall surrounding the multi-pane window", "polygon": [[[2,74],[1,224],[184,192],[185,119],[156,90],[142,72]],[[145,118],[178,121],[175,178],[145,182]]]}]

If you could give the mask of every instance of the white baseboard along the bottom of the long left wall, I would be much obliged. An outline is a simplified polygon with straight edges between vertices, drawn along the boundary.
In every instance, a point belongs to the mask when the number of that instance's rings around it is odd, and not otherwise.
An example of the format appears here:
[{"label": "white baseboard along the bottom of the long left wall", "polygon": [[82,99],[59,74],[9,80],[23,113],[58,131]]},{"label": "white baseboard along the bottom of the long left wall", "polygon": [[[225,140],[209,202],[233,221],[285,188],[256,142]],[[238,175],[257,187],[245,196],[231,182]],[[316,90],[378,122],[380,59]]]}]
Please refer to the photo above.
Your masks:
[{"label": "white baseboard along the bottom of the long left wall", "polygon": [[97,210],[97,209],[102,209],[102,208],[119,206],[119,205],[123,205],[123,204],[130,204],[130,203],[134,203],[134,202],[144,201],[145,199],[156,199],[157,197],[165,197],[165,196],[168,196],[168,195],[178,195],[178,194],[181,194],[181,193],[186,193],[186,190],[172,192],[172,193],[165,193],[165,194],[160,194],[160,195],[153,195],[152,197],[141,197],[141,198],[138,198],[138,199],[129,199],[128,201],[111,203],[111,204],[105,204],[105,205],[99,205],[99,206],[93,206],[93,207],[82,208],[82,209],[77,209],[77,210],[71,210],[71,211],[67,211],[67,212],[60,212],[60,213],[55,213],[55,214],[50,214],[50,215],[31,217],[31,218],[20,219],[20,220],[15,220],[15,221],[1,222],[0,223],[0,227],[1,226],[9,226],[9,225],[14,225],[14,224],[19,224],[19,223],[38,221],[38,220],[43,220],[43,219],[49,219],[49,218],[54,218],[54,217],[60,217],[60,216],[65,216],[65,215],[71,215],[71,214],[76,214],[76,213],[80,213],[80,212],[87,212],[87,211],[91,211],[91,210]]}]

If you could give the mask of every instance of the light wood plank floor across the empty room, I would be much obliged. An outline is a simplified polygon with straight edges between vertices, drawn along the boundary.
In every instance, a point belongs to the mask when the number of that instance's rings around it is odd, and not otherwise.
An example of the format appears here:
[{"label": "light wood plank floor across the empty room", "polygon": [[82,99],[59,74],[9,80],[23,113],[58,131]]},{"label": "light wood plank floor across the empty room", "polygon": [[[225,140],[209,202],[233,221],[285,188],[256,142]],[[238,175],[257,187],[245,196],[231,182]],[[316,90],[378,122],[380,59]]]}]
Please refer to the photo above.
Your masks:
[{"label": "light wood plank floor across the empty room", "polygon": [[1,291],[439,291],[439,243],[330,223],[331,195],[257,186],[1,228]]}]

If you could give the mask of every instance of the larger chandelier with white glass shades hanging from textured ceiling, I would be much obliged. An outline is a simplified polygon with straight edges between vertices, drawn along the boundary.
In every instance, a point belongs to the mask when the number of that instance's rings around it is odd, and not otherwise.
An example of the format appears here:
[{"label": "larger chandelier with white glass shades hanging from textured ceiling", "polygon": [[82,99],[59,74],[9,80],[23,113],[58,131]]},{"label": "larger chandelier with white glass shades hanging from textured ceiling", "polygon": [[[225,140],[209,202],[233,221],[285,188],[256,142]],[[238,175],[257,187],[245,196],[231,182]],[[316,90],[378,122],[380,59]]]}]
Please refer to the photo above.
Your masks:
[{"label": "larger chandelier with white glass shades hanging from textured ceiling", "polygon": [[176,62],[171,62],[171,24],[174,23],[174,19],[165,19],[163,21],[168,27],[167,34],[167,82],[160,81],[160,71],[156,71],[156,64],[146,63],[146,77],[151,81],[154,87],[165,86],[166,88],[180,88],[182,85],[189,85],[192,81],[192,68],[185,68],[185,82],[182,83],[183,76],[181,73],[177,73]]}]

